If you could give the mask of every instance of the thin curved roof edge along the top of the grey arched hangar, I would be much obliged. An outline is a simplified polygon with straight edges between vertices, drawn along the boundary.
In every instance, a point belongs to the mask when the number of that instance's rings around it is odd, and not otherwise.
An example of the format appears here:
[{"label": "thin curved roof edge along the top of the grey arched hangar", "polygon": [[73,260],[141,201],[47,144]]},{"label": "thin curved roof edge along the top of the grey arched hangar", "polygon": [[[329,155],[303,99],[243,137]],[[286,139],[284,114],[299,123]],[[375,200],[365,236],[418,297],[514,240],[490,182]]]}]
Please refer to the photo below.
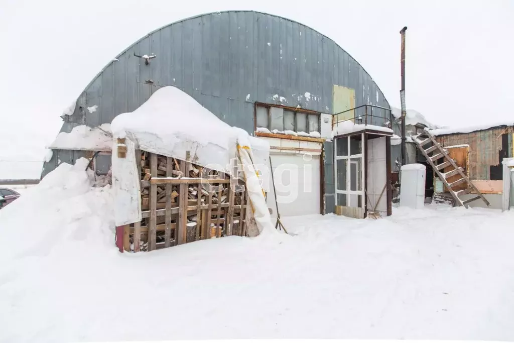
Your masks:
[{"label": "thin curved roof edge along the top of the grey arched hangar", "polygon": [[[296,23],[298,25],[302,25],[310,30],[313,30],[314,32],[322,35],[323,37],[325,37],[326,39],[329,39],[331,40],[332,42],[334,42],[334,44],[340,48],[341,50],[343,50],[346,55],[348,55],[349,57],[351,57],[361,68],[362,70],[364,70],[364,73],[366,73],[370,79],[375,83],[377,89],[380,91],[380,93],[382,93],[382,96],[384,98],[384,100],[386,100],[387,103],[389,103],[389,101],[387,100],[386,98],[386,95],[382,92],[382,89],[380,89],[380,87],[378,86],[378,84],[375,82],[375,80],[373,80],[373,77],[370,75],[370,73],[368,73],[368,71],[359,63],[359,61],[357,61],[352,55],[350,55],[350,53],[348,53],[348,51],[346,51],[345,49],[343,49],[336,41],[334,41],[333,39],[331,39],[330,37],[328,37],[327,35],[321,33],[320,31],[308,26],[308,25],[305,25],[305,24],[302,24],[300,22],[297,22],[296,20],[292,20],[292,19],[289,19],[289,18],[286,18],[284,16],[281,16],[281,15],[276,15],[276,14],[270,14],[270,13],[266,13],[266,12],[260,12],[260,11],[253,11],[253,10],[227,10],[227,11],[216,11],[216,12],[207,12],[207,13],[202,13],[202,14],[197,14],[197,15],[193,15],[193,16],[190,16],[190,17],[187,17],[185,19],[180,19],[180,20],[177,20],[177,21],[174,21],[172,23],[169,23],[169,24],[166,24],[166,25],[163,25],[153,31],[150,31],[148,33],[146,33],[143,37],[141,37],[140,39],[138,39],[137,41],[135,41],[134,43],[132,43],[131,45],[129,45],[127,48],[125,48],[124,50],[122,50],[120,53],[118,53],[118,55],[116,55],[116,57],[114,59],[117,59],[118,57],[120,57],[121,55],[123,55],[125,52],[127,52],[128,50],[130,50],[132,47],[134,47],[136,44],[138,44],[139,42],[141,42],[142,40],[144,40],[145,38],[148,38],[150,37],[152,34],[154,34],[155,32],[159,31],[159,30],[162,30],[164,28],[167,28],[169,26],[172,26],[174,24],[177,24],[177,23],[180,23],[180,22],[185,22],[187,20],[191,20],[191,19],[196,19],[198,17],[202,17],[202,16],[206,16],[206,15],[211,15],[211,14],[219,14],[219,13],[233,13],[233,12],[251,12],[251,13],[259,13],[259,14],[264,14],[264,15],[270,15],[270,16],[274,16],[274,17],[277,17],[277,18],[281,18],[281,19],[284,19],[284,20],[287,20],[287,21],[290,21],[292,23]],[[114,59],[109,61],[109,63],[107,63],[94,77],[93,79],[91,79],[91,81],[84,87],[84,90],[81,92],[84,93],[86,91],[87,88],[89,88],[89,86],[91,84],[93,84],[93,82],[95,82],[95,80],[105,71],[105,69],[107,69],[109,67],[109,65],[113,64],[114,63]],[[78,99],[78,98],[77,98]],[[391,105],[390,105],[391,106]]]}]

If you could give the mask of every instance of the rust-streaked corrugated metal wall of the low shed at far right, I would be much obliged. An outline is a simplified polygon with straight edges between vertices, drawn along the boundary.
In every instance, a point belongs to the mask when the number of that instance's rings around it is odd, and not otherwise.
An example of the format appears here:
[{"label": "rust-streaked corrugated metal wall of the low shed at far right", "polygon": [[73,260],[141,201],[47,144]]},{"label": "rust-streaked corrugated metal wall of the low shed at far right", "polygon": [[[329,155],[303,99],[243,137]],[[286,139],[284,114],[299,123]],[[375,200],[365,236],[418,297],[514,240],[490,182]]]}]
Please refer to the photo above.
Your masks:
[{"label": "rust-streaked corrugated metal wall of the low shed at far right", "polygon": [[468,144],[469,178],[471,180],[489,180],[491,177],[490,167],[498,166],[501,163],[499,152],[502,150],[502,135],[512,132],[512,127],[501,127],[471,133],[437,136],[436,140],[444,147]]}]

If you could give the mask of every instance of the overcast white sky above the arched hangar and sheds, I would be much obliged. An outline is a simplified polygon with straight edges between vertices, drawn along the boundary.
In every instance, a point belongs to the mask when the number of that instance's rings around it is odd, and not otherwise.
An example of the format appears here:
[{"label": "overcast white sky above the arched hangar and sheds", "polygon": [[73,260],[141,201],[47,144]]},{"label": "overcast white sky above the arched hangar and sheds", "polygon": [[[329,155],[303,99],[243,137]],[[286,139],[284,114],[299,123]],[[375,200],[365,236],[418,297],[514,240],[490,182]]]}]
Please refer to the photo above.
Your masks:
[{"label": "overcast white sky above the arched hangar and sheds", "polygon": [[514,121],[511,0],[1,0],[0,157],[14,155],[7,148],[15,140],[18,158],[41,158],[41,148],[58,133],[63,108],[109,60],[149,31],[196,14],[237,9],[281,15],[327,35],[396,107],[399,30],[408,26],[408,109],[439,125]]}]

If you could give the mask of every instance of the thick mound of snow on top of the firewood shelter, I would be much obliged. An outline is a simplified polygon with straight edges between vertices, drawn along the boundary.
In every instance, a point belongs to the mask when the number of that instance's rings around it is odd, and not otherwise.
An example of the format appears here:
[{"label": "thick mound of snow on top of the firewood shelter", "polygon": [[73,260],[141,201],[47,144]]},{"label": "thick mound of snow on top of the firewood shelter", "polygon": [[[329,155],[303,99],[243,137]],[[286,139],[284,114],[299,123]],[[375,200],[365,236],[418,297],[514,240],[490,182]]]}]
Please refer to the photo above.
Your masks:
[{"label": "thick mound of snow on top of the firewood shelter", "polygon": [[[134,112],[118,115],[111,128],[115,137],[126,135],[145,151],[179,159],[185,159],[189,151],[195,163],[203,166],[227,166],[236,139],[248,136],[244,130],[231,127],[172,86],[159,88]],[[248,136],[248,140],[255,164],[266,163],[269,144],[252,136]]]}]

